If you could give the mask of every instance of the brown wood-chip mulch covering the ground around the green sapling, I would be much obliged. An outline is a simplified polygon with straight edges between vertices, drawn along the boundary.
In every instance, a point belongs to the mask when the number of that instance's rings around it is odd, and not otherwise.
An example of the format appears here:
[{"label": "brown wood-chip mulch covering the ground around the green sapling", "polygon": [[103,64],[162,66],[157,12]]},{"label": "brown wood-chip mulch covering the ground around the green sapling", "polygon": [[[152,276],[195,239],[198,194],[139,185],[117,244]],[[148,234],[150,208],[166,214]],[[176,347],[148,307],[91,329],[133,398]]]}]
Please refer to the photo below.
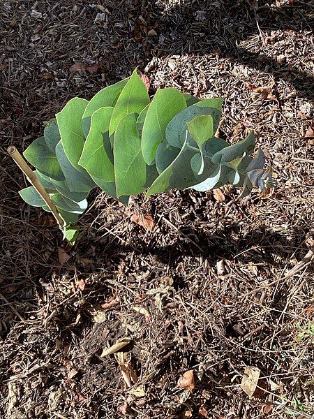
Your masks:
[{"label": "brown wood-chip mulch covering the ground around the green sapling", "polygon": [[[313,416],[313,266],[284,278],[313,237],[313,22],[313,1],[297,0],[1,3],[1,418]],[[136,66],[151,94],[225,96],[221,135],[254,128],[278,188],[140,196],[127,212],[94,191],[61,267],[61,234],[20,200],[6,147]],[[100,358],[121,337],[129,390],[114,355]],[[264,389],[251,399],[246,367]],[[177,385],[189,369],[193,392]]]}]

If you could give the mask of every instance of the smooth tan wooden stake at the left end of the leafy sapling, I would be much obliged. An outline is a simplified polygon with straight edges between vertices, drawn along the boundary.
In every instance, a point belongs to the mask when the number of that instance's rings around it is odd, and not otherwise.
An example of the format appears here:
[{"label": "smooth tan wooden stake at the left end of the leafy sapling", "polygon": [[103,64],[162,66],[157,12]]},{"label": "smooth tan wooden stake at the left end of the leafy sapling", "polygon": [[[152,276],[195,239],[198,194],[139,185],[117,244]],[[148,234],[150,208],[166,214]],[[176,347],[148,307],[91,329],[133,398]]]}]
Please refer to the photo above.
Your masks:
[{"label": "smooth tan wooden stake at the left end of the leafy sapling", "polygon": [[29,179],[29,182],[31,185],[36,189],[36,191],[39,193],[41,198],[45,201],[45,203],[50,207],[50,210],[52,211],[52,214],[54,215],[54,218],[57,220],[57,223],[59,224],[59,227],[62,229],[64,221],[61,219],[61,216],[59,216],[59,212],[57,210],[56,205],[52,202],[50,199],[50,196],[45,191],[45,188],[42,184],[40,184],[38,177],[33,173],[33,170],[29,167],[27,162],[23,159],[22,155],[14,145],[10,145],[10,147],[7,148],[8,154],[12,157],[12,159],[15,161],[17,166],[22,170],[24,175]]}]

